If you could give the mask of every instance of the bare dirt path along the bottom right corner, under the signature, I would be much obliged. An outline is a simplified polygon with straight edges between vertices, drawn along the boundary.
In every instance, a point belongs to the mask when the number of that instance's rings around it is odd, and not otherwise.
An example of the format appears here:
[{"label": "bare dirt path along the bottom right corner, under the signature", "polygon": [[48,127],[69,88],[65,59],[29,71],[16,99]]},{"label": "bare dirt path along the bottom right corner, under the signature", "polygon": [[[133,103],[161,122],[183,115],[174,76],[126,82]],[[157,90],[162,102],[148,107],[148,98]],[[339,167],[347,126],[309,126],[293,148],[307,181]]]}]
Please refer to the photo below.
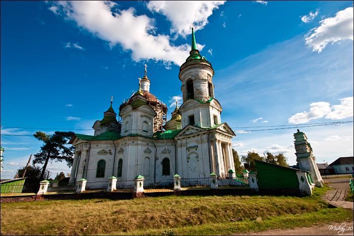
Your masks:
[{"label": "bare dirt path along the bottom right corner, under the signature", "polygon": [[272,229],[243,235],[353,235],[353,222],[331,223],[294,229]]}]

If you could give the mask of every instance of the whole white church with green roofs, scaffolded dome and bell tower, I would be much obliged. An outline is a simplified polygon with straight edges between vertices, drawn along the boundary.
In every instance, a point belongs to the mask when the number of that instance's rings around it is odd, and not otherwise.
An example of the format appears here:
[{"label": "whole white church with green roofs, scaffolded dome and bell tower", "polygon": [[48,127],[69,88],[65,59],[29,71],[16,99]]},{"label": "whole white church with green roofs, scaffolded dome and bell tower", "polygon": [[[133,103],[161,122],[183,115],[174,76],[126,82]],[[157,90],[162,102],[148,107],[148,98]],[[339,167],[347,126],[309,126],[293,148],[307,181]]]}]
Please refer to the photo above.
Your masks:
[{"label": "whole white church with green roofs, scaffolded dome and bell tower", "polygon": [[[117,187],[137,175],[144,185],[159,184],[178,174],[182,179],[226,177],[235,171],[231,139],[235,133],[222,123],[222,106],[214,96],[211,64],[199,54],[192,29],[192,50],[181,66],[183,104],[166,122],[167,106],[150,93],[150,79],[119,107],[111,106],[94,123],[94,135],[75,133],[70,184],[117,177]],[[153,87],[153,84],[152,84]]]}]

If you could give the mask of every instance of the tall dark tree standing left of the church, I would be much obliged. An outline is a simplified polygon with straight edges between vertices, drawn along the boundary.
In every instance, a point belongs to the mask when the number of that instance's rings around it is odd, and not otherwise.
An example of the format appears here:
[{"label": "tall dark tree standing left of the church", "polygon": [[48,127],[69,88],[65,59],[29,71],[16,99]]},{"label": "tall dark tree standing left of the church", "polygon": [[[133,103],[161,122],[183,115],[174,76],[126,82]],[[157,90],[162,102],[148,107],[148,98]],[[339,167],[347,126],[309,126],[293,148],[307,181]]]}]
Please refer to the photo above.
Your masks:
[{"label": "tall dark tree standing left of the church", "polygon": [[66,161],[67,165],[71,167],[73,162],[74,147],[67,147],[68,141],[74,135],[74,132],[55,131],[54,134],[46,134],[45,132],[37,131],[33,136],[40,141],[43,141],[43,146],[40,147],[40,152],[34,155],[33,164],[44,164],[40,179],[45,176],[48,162]]}]

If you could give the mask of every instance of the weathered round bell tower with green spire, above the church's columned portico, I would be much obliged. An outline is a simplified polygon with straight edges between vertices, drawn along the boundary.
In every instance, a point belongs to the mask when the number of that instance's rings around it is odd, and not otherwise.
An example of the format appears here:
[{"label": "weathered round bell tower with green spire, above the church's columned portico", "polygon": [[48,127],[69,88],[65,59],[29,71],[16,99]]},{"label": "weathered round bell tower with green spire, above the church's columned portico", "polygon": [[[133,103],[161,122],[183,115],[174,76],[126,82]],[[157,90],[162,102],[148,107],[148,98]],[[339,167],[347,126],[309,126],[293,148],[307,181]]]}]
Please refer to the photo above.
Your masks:
[{"label": "weathered round bell tower with green spire, above the church's columned portico", "polygon": [[210,62],[200,55],[193,28],[192,49],[189,54],[179,74],[183,93],[183,104],[180,108],[182,128],[187,125],[210,128],[221,123],[222,107],[214,98],[214,70]]}]

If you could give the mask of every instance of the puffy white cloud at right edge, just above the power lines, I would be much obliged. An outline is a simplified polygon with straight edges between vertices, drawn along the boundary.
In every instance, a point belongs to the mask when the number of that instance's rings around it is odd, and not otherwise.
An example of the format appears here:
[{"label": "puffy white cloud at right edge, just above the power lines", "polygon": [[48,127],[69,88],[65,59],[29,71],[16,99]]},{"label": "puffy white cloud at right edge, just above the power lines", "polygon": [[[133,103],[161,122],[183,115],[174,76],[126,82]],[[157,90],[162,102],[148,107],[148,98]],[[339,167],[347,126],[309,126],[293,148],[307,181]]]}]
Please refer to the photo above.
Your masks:
[{"label": "puffy white cloud at right edge, just above the power lines", "polygon": [[288,121],[292,124],[307,123],[314,119],[326,118],[331,120],[341,120],[353,116],[353,97],[339,100],[340,105],[330,106],[327,102],[317,102],[310,104],[309,112],[300,112],[291,116]]}]

